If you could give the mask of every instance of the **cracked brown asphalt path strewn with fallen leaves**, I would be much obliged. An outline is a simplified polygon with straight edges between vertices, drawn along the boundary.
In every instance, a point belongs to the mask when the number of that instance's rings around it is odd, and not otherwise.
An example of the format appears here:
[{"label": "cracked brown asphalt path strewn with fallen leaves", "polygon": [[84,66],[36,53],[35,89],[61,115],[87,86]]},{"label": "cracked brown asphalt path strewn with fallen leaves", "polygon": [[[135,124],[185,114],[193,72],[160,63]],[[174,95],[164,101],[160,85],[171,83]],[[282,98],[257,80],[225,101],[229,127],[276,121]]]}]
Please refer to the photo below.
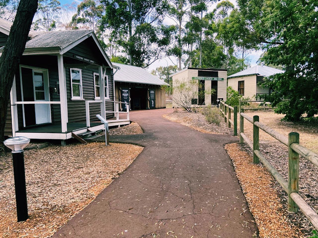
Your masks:
[{"label": "cracked brown asphalt path strewn with fallen leaves", "polygon": [[145,133],[110,140],[144,151],[55,238],[253,237],[257,230],[224,149],[237,138],[161,117],[169,112],[131,113]]}]

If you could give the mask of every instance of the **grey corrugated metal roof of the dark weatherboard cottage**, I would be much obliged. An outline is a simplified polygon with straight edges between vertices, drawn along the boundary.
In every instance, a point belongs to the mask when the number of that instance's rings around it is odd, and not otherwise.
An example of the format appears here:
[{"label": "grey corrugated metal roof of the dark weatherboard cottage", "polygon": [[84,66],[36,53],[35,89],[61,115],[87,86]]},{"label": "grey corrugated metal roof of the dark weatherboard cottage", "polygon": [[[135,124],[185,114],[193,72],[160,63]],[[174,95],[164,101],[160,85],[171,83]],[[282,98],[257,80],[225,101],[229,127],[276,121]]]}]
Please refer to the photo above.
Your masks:
[{"label": "grey corrugated metal roof of the dark weatherboard cottage", "polygon": [[92,30],[41,32],[29,40],[25,48],[60,47],[62,50],[91,32]]}]

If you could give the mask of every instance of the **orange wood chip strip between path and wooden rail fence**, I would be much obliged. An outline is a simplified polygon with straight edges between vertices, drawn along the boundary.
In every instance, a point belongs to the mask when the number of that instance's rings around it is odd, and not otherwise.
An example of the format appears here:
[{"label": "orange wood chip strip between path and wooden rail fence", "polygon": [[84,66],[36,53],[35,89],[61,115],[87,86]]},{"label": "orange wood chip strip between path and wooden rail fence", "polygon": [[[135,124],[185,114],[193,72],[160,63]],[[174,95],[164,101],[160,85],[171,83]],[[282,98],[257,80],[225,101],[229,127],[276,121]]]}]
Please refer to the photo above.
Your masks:
[{"label": "orange wood chip strip between path and wooden rail fence", "polygon": [[266,167],[253,164],[252,156],[237,143],[228,144],[225,149],[233,161],[249,210],[258,227],[259,237],[308,237],[310,229],[304,229],[304,223],[300,222],[304,216],[301,212],[287,212],[287,201],[281,196],[284,191]]}]

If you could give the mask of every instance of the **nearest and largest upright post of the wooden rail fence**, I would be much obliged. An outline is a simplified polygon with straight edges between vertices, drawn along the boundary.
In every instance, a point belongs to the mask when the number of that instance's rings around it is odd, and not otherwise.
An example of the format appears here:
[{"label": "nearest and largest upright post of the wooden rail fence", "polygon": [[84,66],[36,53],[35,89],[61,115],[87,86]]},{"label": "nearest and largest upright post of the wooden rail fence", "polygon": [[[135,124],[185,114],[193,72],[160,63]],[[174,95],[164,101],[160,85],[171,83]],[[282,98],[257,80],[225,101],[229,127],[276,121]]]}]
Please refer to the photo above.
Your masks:
[{"label": "nearest and largest upright post of the wooden rail fence", "polygon": [[292,192],[298,193],[299,179],[299,154],[290,147],[293,143],[299,144],[299,134],[297,132],[288,134],[288,211],[298,212],[298,206],[290,197]]}]

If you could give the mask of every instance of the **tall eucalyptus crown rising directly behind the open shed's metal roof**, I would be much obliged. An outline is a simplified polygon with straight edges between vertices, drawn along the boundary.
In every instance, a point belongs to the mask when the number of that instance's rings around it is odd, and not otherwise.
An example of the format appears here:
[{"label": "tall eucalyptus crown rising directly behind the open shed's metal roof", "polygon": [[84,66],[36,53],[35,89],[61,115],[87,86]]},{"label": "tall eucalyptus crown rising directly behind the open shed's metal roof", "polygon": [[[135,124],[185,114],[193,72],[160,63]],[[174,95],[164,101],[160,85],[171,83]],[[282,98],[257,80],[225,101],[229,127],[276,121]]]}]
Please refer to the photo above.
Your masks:
[{"label": "tall eucalyptus crown rising directly behind the open shed's metal roof", "polygon": [[165,54],[174,27],[162,26],[165,0],[101,0],[101,31],[123,47],[131,65],[147,67]]}]

